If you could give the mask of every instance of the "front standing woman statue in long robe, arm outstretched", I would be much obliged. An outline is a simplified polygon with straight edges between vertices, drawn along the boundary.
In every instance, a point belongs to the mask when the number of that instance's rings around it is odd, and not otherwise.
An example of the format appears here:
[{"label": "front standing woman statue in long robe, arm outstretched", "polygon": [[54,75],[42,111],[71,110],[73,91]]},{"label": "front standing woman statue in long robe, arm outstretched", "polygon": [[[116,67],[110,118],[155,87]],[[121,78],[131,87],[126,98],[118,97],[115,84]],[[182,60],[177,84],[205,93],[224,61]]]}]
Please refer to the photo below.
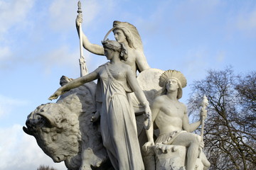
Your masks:
[{"label": "front standing woman statue in long robe, arm outstretched", "polygon": [[[106,64],[98,67],[94,72],[70,81],[60,87],[50,96],[58,98],[65,91],[74,89],[82,84],[95,79],[101,81],[102,106],[100,111],[100,128],[103,145],[114,169],[144,169],[142,155],[137,138],[136,120],[127,93],[134,92],[140,103],[143,103],[145,113],[151,116],[149,103],[131,67],[121,60],[127,60],[127,49],[116,41],[106,40],[102,42],[104,47]],[[149,118],[149,120],[151,120]]]}]

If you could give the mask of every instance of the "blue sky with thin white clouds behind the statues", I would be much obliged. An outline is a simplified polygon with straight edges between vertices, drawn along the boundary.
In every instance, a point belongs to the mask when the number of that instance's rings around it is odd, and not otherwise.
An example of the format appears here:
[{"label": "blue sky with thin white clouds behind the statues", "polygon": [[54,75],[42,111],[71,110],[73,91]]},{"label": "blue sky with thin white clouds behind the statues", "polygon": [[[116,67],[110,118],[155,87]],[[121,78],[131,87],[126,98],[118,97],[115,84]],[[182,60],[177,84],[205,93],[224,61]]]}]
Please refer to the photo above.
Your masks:
[{"label": "blue sky with thin white clouds behind the statues", "polygon": [[[54,164],[22,131],[36,106],[48,103],[62,75],[80,76],[75,28],[78,1],[0,0],[0,169]],[[189,84],[208,69],[255,71],[256,1],[82,0],[82,29],[100,44],[112,22],[137,27],[150,67],[176,69]],[[114,39],[112,36],[110,38]],[[85,51],[89,72],[107,62]],[[54,101],[53,101],[54,102]]]}]

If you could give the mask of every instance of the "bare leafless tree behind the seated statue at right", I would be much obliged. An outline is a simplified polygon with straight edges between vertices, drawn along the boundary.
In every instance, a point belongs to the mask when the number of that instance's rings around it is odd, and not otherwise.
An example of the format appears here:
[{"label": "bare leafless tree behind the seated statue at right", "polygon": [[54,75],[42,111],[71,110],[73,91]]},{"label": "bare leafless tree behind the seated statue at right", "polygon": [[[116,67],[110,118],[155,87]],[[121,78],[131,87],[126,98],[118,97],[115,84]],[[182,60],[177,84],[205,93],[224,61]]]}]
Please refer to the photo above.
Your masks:
[{"label": "bare leafless tree behind the seated statue at right", "polygon": [[256,72],[235,76],[232,67],[209,70],[191,85],[188,111],[198,113],[196,101],[209,101],[205,122],[205,151],[210,169],[256,169]]}]

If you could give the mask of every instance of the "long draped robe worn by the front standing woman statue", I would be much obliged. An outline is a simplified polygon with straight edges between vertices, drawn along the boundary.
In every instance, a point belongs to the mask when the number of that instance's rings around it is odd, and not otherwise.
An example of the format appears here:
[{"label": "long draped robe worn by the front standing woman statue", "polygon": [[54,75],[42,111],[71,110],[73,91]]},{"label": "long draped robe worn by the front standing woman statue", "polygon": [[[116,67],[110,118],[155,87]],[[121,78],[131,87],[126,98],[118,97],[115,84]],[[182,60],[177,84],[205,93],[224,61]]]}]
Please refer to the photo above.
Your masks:
[{"label": "long draped robe worn by the front standing woman statue", "polygon": [[100,69],[102,108],[100,129],[103,145],[114,169],[144,169],[133,108],[128,101],[128,84],[114,79],[108,64]]}]

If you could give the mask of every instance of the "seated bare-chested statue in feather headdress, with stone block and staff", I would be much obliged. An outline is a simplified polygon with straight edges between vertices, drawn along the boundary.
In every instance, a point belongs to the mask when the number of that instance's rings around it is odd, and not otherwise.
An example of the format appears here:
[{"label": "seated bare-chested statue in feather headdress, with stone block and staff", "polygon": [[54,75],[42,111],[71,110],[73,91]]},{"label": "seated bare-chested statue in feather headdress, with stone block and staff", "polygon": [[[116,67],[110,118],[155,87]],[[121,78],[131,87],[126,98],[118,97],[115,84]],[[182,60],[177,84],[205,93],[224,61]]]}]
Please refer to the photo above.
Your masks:
[{"label": "seated bare-chested statue in feather headdress, with stone block and staff", "polygon": [[[201,152],[202,137],[192,133],[203,125],[203,118],[206,118],[206,99],[201,104],[203,107],[200,120],[189,123],[186,106],[178,101],[182,97],[182,88],[186,86],[183,74],[176,70],[167,70],[161,74],[159,86],[163,87],[162,93],[154,99],[151,111],[152,121],[159,128],[160,135],[154,140],[154,128],[146,130],[149,142],[144,145],[144,151],[149,152],[148,149],[154,147],[156,169],[176,170],[183,169],[184,166],[186,170],[207,169],[210,163]],[[200,164],[196,164],[198,155],[201,157]],[[144,162],[149,164],[146,159]]]}]

